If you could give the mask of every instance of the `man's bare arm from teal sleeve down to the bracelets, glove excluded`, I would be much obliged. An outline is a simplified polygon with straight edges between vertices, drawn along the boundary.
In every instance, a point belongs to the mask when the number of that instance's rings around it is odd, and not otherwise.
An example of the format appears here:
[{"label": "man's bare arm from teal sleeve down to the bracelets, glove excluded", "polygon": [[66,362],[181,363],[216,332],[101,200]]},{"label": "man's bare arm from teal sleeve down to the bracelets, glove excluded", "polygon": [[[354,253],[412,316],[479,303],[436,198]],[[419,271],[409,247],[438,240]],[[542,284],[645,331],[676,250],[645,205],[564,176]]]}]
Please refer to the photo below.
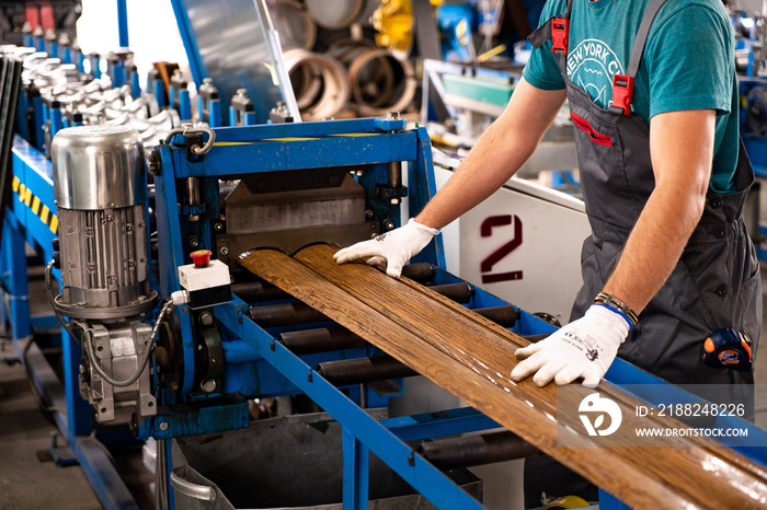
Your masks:
[{"label": "man's bare arm from teal sleeve down to the bracelets, glove excluded", "polygon": [[650,120],[655,189],[604,288],[637,313],[674,270],[703,213],[714,120],[712,109],[667,112]]}]

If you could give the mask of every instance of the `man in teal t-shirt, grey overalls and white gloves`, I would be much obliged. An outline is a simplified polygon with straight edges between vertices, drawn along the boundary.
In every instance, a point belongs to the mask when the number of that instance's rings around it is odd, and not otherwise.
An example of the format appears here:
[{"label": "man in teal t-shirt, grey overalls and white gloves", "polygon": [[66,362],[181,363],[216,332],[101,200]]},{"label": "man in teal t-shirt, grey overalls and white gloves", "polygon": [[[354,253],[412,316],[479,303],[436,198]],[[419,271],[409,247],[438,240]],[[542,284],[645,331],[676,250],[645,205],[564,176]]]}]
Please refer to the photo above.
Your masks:
[{"label": "man in teal t-shirt, grey overalls and white gloves", "polygon": [[592,228],[583,287],[568,325],[517,350],[512,378],[595,385],[617,355],[674,384],[747,395],[753,370],[701,357],[722,328],[745,334],[755,356],[763,313],[742,218],[754,172],[721,0],[549,0],[541,20],[508,105],[455,175],[416,218],[336,260],[371,257],[398,277],[522,166],[566,98]]}]

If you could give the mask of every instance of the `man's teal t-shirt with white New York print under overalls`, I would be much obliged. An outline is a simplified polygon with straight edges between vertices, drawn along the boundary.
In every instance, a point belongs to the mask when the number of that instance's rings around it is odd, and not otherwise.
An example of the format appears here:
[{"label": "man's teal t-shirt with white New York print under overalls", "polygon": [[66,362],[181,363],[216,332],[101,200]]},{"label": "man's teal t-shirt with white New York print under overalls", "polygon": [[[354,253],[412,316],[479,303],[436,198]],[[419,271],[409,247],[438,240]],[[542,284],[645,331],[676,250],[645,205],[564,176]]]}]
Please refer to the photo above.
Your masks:
[{"label": "man's teal t-shirt with white New York print under overalls", "polygon": [[[609,107],[613,98],[613,77],[626,73],[649,3],[573,0],[568,77],[603,108]],[[541,23],[559,16],[565,8],[565,0],[549,0]],[[564,88],[551,40],[533,50],[523,76],[538,89]],[[735,189],[739,119],[734,36],[720,0],[668,0],[661,8],[634,78],[632,108],[648,124],[663,112],[716,109],[710,187],[718,192]]]}]

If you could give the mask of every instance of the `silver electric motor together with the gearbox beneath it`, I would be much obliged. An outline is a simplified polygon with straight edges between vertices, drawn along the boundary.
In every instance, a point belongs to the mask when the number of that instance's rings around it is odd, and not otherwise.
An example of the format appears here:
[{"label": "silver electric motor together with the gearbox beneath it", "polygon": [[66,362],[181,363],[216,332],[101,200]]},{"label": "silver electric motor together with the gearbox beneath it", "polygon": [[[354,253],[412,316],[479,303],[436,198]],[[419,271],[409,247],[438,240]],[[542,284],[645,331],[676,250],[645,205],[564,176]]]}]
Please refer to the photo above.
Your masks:
[{"label": "silver electric motor together with the gearbox beneath it", "polygon": [[61,293],[54,305],[83,331],[80,393],[100,422],[153,416],[150,370],[126,384],[150,348],[152,327],[139,314],[158,301],[149,286],[140,136],[128,126],[61,129],[51,143],[51,160],[61,269]]}]

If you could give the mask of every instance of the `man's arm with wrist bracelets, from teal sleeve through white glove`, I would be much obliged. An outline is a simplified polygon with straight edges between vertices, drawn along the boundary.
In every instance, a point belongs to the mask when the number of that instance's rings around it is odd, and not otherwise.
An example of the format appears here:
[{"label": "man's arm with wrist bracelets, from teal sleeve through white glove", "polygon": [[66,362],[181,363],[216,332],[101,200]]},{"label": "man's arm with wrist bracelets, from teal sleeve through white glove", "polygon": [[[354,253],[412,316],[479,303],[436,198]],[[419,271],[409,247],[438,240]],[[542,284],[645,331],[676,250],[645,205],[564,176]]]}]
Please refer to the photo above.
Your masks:
[{"label": "man's arm with wrist bracelets, from teal sleeve through white glove", "polygon": [[[713,161],[716,113],[668,112],[650,121],[655,188],[637,221],[604,291],[639,313],[668,279],[700,221]],[[583,378],[596,385],[629,334],[629,320],[616,310],[592,305],[586,314],[538,344],[516,351],[524,359],[512,370],[520,381],[531,374],[542,386]]]}]

